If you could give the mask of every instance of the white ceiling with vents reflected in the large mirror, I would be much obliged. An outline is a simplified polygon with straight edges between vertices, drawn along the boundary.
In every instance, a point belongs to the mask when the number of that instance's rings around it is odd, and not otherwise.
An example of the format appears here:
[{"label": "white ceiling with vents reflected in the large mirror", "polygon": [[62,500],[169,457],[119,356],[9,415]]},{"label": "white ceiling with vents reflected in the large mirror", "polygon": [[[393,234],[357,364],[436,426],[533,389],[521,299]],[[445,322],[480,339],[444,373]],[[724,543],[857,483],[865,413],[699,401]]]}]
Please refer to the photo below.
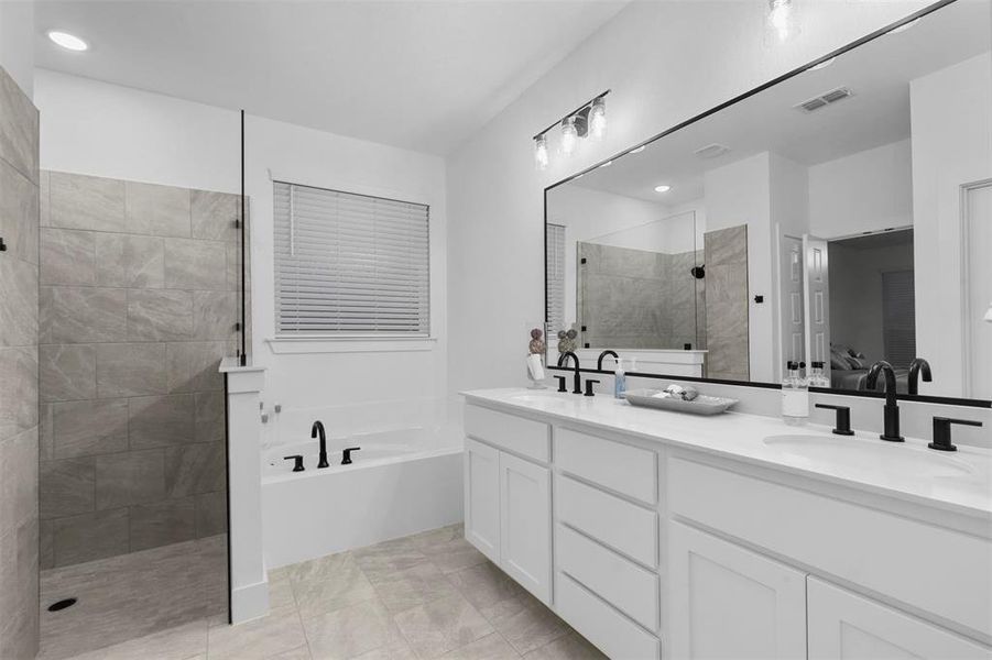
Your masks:
[{"label": "white ceiling with vents reflected in the large mirror", "polygon": [[[702,197],[706,170],[761,152],[808,166],[904,140],[909,81],[989,52],[990,7],[949,4],[905,32],[849,51],[827,68],[805,72],[569,185],[674,207]],[[794,109],[837,87],[849,87],[854,96],[809,114]],[[713,160],[694,154],[712,143],[731,151]],[[672,190],[655,193],[661,184]]]}]

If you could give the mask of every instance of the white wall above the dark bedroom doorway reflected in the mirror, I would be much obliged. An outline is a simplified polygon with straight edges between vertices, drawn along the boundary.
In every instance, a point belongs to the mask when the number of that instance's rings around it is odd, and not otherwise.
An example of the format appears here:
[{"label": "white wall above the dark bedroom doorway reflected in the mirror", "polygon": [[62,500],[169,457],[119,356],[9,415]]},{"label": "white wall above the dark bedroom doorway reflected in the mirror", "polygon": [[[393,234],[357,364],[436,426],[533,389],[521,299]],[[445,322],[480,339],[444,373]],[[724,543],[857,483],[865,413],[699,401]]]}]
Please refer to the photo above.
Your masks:
[{"label": "white wall above the dark bedroom doorway reflected in the mirror", "polygon": [[809,167],[809,229],[821,239],[913,224],[909,140]]}]

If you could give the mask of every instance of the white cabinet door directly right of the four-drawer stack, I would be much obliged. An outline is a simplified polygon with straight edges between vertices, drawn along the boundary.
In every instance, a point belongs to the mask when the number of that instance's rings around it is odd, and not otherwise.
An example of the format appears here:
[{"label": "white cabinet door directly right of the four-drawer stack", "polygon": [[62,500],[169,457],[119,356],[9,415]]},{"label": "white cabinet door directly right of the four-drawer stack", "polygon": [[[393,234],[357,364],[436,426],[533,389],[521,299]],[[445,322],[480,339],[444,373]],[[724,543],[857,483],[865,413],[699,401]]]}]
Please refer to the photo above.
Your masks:
[{"label": "white cabinet door directly right of the four-drawer stack", "polygon": [[668,580],[672,657],[806,657],[805,573],[672,521]]}]

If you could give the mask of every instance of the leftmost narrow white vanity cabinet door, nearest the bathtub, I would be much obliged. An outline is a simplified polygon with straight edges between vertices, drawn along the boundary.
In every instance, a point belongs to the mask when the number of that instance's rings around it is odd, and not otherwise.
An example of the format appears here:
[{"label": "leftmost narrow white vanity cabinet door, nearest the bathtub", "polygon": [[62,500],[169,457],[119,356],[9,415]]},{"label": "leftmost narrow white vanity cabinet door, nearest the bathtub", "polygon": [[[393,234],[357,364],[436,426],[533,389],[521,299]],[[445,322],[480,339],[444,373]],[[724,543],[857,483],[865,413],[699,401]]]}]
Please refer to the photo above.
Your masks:
[{"label": "leftmost narrow white vanity cabinet door, nearest the bathtub", "polygon": [[465,439],[465,538],[500,563],[500,452]]}]

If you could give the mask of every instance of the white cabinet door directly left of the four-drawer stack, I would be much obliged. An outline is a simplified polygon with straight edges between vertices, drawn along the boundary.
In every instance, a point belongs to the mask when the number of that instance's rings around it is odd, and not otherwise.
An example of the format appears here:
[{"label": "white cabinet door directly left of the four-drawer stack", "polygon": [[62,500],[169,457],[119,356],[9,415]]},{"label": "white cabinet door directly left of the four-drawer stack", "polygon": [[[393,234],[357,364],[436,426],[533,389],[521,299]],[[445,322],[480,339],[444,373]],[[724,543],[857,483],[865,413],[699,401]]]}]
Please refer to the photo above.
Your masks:
[{"label": "white cabinet door directly left of the four-drawer stack", "polygon": [[550,471],[500,453],[500,568],[550,603]]}]

